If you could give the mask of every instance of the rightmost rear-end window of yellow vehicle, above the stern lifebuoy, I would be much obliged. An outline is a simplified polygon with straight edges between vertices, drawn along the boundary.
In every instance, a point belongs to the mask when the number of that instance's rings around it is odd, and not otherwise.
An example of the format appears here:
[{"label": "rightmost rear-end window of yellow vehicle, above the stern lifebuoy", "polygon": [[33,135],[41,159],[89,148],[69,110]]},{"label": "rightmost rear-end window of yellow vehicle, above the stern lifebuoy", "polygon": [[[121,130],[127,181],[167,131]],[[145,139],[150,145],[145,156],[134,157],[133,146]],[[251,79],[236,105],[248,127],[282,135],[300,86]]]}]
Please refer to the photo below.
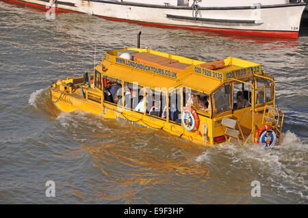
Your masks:
[{"label": "rightmost rear-end window of yellow vehicle, above the stern lifebuoy", "polygon": [[269,79],[257,77],[256,104],[267,103],[274,98],[274,84]]}]

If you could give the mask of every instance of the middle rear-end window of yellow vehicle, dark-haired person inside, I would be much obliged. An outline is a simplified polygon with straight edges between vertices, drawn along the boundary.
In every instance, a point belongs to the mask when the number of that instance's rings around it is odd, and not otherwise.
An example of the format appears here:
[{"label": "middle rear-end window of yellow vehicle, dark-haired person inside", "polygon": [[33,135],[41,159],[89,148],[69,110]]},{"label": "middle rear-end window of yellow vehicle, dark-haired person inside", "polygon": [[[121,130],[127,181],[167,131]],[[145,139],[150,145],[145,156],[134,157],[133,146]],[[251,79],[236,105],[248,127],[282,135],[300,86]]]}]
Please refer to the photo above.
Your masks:
[{"label": "middle rear-end window of yellow vehicle, dark-haired person inside", "polygon": [[233,110],[251,107],[251,89],[246,83],[233,83]]}]

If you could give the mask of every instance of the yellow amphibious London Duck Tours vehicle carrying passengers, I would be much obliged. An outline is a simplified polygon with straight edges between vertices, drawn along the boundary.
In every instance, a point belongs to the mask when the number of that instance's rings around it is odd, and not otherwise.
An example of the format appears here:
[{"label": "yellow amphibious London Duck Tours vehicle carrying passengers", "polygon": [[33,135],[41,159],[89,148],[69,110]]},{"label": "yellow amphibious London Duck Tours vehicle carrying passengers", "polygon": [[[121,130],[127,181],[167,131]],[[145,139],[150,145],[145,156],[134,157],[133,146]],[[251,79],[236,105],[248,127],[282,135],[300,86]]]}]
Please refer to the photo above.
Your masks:
[{"label": "yellow amphibious London Duck Tours vehicle carrying passengers", "polygon": [[201,62],[149,49],[107,51],[83,77],[51,84],[62,111],[89,111],[205,145],[279,143],[274,78],[234,57]]}]

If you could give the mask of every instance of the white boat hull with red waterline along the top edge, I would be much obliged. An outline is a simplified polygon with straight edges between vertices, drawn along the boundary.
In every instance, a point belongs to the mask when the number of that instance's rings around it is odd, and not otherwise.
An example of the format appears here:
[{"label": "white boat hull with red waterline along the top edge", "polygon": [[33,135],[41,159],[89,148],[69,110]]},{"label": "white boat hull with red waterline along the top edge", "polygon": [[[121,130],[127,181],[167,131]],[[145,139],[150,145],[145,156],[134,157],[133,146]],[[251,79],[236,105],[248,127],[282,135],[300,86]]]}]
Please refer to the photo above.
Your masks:
[{"label": "white boat hull with red waterline along the top edge", "polygon": [[[57,12],[81,12],[112,21],[226,34],[298,38],[302,0],[1,0]],[[48,7],[49,6],[49,7]]]}]

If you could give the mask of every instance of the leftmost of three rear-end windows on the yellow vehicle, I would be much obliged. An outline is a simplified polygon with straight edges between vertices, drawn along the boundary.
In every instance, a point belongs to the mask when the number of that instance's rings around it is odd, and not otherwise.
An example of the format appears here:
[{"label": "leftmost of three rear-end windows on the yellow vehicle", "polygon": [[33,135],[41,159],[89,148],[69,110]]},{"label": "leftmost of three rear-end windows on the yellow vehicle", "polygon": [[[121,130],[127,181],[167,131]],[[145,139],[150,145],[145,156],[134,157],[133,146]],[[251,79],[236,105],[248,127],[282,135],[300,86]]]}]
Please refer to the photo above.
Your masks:
[{"label": "leftmost of three rear-end windows on the yellow vehicle", "polygon": [[231,85],[223,85],[214,93],[214,113],[231,110]]}]

